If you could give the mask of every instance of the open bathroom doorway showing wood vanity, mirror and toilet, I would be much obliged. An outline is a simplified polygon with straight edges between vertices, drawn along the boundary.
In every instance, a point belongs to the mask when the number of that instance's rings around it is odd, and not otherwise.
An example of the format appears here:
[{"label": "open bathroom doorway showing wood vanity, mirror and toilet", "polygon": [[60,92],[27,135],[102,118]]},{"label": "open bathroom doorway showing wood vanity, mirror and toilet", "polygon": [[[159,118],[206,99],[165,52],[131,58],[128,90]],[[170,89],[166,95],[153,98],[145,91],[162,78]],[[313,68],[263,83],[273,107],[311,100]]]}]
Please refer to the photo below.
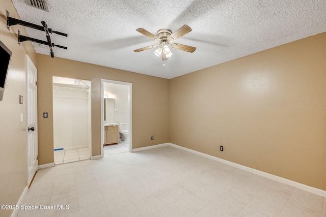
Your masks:
[{"label": "open bathroom doorway showing wood vanity, mirror and toilet", "polygon": [[132,151],[132,84],[101,79],[101,156]]}]

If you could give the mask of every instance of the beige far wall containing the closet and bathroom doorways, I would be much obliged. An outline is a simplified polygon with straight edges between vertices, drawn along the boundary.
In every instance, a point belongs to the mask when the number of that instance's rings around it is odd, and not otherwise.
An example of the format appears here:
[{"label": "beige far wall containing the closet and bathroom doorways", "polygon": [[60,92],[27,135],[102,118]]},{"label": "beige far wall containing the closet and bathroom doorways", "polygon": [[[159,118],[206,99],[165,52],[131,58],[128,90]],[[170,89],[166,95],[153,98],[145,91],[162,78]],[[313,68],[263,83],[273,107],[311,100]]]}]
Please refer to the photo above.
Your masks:
[{"label": "beige far wall containing the closet and bathroom doorways", "polygon": [[37,62],[40,165],[53,162],[52,76],[92,81],[92,156],[101,154],[100,79],[132,83],[132,148],[169,142],[168,79],[42,54],[37,54]]}]

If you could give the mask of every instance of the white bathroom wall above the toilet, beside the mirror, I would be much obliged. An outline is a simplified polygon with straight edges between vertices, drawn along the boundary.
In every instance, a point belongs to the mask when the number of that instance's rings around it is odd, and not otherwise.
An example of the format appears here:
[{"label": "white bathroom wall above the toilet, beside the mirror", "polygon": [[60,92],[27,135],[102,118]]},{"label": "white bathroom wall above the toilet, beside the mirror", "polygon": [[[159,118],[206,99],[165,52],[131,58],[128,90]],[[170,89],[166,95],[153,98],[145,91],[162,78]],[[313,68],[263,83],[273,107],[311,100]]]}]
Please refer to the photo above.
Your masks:
[{"label": "white bathroom wall above the toilet, beside the mirror", "polygon": [[104,95],[115,99],[115,122],[129,122],[128,86],[114,83],[104,83]]}]

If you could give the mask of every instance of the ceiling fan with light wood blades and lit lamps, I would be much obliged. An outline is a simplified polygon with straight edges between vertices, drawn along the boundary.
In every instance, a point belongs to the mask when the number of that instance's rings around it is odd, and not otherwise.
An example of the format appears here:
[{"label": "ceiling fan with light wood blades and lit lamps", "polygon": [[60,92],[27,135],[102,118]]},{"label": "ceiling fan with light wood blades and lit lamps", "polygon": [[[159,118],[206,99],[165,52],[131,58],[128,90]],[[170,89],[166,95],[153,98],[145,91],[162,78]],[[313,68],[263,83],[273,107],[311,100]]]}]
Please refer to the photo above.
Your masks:
[{"label": "ceiling fan with light wood blades and lit lamps", "polygon": [[192,46],[188,46],[188,45],[183,45],[183,44],[178,44],[178,43],[170,44],[170,42],[173,42],[173,41],[177,40],[178,38],[184,36],[185,34],[191,32],[192,28],[189,27],[188,25],[181,26],[174,33],[172,33],[172,31],[170,29],[166,29],[166,28],[159,29],[156,34],[157,36],[151,34],[144,28],[138,28],[136,30],[137,30],[137,32],[140,32],[141,34],[143,34],[151,39],[154,39],[156,42],[159,42],[159,45],[151,45],[151,46],[139,48],[137,50],[134,50],[134,52],[140,52],[140,51],[158,47],[154,53],[156,56],[161,56],[162,60],[164,61],[164,60],[169,59],[169,57],[172,56],[172,52],[168,45],[170,45],[172,48],[176,48],[176,49],[191,52],[191,53],[193,53],[196,50],[196,47],[192,47]]}]

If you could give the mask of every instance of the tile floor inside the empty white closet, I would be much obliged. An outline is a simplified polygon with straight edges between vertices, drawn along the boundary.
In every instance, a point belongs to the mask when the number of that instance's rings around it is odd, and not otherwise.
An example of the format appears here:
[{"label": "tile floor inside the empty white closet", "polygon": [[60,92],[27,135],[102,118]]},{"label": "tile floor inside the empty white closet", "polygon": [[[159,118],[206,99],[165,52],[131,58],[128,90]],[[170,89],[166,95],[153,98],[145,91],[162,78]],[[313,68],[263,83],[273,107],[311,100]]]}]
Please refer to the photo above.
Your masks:
[{"label": "tile floor inside the empty white closet", "polygon": [[55,151],[55,164],[64,164],[91,158],[89,148],[79,148],[73,150],[57,150]]}]

